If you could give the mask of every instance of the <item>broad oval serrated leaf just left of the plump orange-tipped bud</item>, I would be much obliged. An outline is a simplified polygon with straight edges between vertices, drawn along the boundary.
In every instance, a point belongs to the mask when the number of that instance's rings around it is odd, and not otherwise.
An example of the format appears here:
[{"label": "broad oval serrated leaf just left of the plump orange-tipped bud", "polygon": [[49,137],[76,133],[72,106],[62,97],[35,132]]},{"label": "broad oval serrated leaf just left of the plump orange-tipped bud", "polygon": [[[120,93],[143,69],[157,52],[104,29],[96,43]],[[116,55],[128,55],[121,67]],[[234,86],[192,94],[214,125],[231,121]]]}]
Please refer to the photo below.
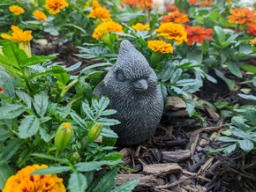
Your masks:
[{"label": "broad oval serrated leaf just left of the plump orange-tipped bud", "polygon": [[27,115],[21,120],[19,125],[19,137],[29,138],[34,136],[39,129],[39,120],[35,115]]}]

